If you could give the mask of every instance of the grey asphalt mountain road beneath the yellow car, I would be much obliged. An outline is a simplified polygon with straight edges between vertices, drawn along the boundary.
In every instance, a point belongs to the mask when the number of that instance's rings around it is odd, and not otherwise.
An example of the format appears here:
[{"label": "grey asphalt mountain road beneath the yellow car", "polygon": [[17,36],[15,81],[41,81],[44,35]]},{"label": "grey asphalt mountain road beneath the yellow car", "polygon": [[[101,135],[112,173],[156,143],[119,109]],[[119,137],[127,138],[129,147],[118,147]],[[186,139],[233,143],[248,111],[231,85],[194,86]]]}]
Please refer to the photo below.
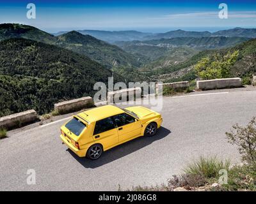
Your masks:
[{"label": "grey asphalt mountain road beneath the yellow car", "polygon": [[[156,136],[115,147],[97,161],[79,158],[61,144],[66,119],[10,131],[0,141],[0,190],[116,191],[118,184],[127,189],[165,183],[199,156],[238,163],[225,132],[256,115],[256,89],[221,92],[164,98],[163,128]],[[28,169],[36,172],[35,185],[27,184]]]}]

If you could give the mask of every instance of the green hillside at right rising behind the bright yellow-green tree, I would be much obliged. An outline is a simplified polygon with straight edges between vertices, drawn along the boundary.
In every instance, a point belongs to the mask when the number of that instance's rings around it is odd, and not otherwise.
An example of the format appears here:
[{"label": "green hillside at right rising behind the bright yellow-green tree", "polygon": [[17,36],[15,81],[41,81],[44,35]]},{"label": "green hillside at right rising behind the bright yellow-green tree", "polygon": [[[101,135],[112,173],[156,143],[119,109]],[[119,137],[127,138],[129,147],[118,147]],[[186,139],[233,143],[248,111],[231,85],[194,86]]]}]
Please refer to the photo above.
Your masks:
[{"label": "green hillside at right rising behind the bright yellow-green tree", "polygon": [[196,78],[193,66],[203,57],[214,57],[216,54],[226,55],[239,51],[239,57],[236,64],[232,66],[231,74],[233,77],[251,78],[256,74],[256,39],[245,41],[235,47],[225,48],[221,50],[205,50],[200,52],[185,62],[177,65],[160,68],[148,72],[148,76],[153,76],[156,79],[164,80],[165,82],[179,80],[193,80]]}]

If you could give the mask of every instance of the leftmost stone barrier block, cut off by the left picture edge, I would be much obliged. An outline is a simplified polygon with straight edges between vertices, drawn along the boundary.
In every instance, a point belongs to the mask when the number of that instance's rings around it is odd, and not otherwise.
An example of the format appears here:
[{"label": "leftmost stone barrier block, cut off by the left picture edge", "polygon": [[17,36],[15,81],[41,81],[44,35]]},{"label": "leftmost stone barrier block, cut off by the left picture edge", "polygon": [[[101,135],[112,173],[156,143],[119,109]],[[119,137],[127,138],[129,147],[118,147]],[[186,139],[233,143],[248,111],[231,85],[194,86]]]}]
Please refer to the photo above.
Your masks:
[{"label": "leftmost stone barrier block, cut off by the left picture edge", "polygon": [[0,127],[6,129],[12,129],[20,127],[30,122],[37,120],[37,113],[35,110],[28,110],[25,112],[15,113],[12,115],[4,116],[0,118]]}]

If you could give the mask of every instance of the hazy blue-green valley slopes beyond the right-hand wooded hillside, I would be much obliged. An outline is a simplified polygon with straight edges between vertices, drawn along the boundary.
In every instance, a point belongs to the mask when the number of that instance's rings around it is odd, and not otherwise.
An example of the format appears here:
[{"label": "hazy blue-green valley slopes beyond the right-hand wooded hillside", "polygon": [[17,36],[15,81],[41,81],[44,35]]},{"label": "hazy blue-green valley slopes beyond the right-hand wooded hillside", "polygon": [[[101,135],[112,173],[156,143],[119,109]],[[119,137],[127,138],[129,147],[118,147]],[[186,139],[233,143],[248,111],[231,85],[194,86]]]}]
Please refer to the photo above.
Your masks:
[{"label": "hazy blue-green valley slopes beyond the right-hand wooded hillside", "polygon": [[147,41],[120,41],[116,45],[132,55],[150,59],[141,66],[141,70],[164,68],[186,61],[201,50],[227,48],[250,38],[207,37],[207,38],[170,38]]}]

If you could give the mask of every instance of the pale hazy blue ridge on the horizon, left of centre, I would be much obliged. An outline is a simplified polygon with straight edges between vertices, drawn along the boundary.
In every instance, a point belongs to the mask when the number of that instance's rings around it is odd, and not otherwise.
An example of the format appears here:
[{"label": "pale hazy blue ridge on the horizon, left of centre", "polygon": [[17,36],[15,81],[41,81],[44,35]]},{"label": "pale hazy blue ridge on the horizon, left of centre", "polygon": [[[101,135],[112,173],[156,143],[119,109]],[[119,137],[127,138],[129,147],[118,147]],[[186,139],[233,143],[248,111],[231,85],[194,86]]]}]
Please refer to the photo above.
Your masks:
[{"label": "pale hazy blue ridge on the horizon, left of centre", "polygon": [[[152,33],[141,33],[138,31],[97,31],[97,30],[79,30],[81,34],[89,34],[99,40],[113,43],[115,41],[132,41],[132,40],[143,40],[145,36],[151,35]],[[55,36],[65,34],[68,32],[61,31],[55,33]]]}]

